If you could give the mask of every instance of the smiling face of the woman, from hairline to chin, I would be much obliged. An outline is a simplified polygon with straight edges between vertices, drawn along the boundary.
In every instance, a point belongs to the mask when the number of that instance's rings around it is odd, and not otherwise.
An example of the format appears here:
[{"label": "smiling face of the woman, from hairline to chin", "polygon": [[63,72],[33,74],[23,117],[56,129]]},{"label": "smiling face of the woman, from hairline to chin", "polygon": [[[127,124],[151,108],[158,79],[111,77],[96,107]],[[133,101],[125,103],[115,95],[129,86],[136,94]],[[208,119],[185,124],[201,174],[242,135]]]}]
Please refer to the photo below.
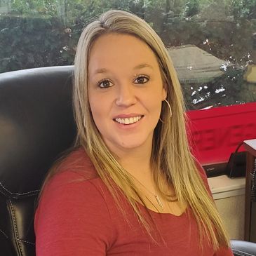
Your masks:
[{"label": "smiling face of the woman, from hairline to chin", "polygon": [[102,35],[91,48],[88,75],[90,109],[107,147],[151,149],[166,90],[149,46],[128,34]]}]

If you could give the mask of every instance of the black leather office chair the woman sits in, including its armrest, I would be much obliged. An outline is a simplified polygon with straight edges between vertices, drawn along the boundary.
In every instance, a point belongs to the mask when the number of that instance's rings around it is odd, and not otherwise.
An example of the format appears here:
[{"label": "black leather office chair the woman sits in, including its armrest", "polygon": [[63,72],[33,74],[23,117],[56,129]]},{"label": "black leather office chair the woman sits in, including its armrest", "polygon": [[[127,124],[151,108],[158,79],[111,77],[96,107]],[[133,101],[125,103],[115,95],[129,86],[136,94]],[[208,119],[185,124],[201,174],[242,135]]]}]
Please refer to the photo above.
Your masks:
[{"label": "black leather office chair the woman sits in, including its armrest", "polygon": [[[35,255],[41,183],[76,135],[72,71],[66,66],[0,74],[0,255]],[[256,255],[254,243],[233,241],[232,248],[235,255]]]}]

